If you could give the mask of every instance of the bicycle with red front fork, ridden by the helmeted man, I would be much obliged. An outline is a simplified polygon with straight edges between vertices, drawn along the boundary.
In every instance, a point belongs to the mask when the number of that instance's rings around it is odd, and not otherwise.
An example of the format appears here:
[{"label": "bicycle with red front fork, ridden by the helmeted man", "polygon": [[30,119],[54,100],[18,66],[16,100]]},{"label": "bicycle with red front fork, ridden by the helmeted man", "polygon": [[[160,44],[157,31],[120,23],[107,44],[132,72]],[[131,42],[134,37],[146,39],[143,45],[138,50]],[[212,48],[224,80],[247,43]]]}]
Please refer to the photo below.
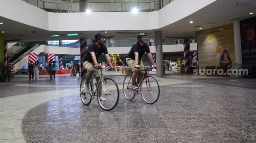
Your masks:
[{"label": "bicycle with red front fork, ridden by the helmeted man", "polygon": [[[144,70],[142,70],[144,68]],[[132,90],[131,74],[127,75],[123,80],[123,94],[127,100],[133,100],[135,95],[141,94],[142,99],[147,104],[154,104],[160,95],[160,88],[157,80],[154,77],[147,75],[147,68],[141,67],[140,71],[145,71],[142,81],[138,84],[138,89]]]}]

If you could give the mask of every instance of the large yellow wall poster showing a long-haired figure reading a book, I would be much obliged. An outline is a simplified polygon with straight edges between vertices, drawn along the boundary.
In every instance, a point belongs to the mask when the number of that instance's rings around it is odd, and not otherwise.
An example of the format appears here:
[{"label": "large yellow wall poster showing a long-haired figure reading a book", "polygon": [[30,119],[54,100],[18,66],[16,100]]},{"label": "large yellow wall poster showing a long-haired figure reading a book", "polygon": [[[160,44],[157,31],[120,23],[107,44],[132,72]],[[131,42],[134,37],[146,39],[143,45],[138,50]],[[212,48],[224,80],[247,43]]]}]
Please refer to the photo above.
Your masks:
[{"label": "large yellow wall poster showing a long-haired figure reading a book", "polygon": [[235,65],[233,24],[197,32],[197,44],[200,69]]}]

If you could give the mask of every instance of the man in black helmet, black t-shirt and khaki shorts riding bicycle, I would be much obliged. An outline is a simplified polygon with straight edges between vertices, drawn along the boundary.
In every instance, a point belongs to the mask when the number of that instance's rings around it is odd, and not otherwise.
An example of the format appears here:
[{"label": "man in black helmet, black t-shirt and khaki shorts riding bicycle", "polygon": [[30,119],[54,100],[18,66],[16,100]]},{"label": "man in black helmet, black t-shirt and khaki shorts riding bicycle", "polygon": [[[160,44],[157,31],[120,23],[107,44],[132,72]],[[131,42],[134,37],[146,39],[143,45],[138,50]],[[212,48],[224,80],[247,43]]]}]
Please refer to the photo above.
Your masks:
[{"label": "man in black helmet, black t-shirt and khaki shorts riding bicycle", "polygon": [[[126,63],[129,68],[133,70],[132,75],[132,88],[133,90],[138,89],[137,85],[141,82],[143,78],[143,71],[140,71],[140,67],[143,67],[142,57],[147,53],[149,61],[153,64],[154,68],[157,68],[154,63],[153,57],[149,50],[149,45],[147,45],[147,35],[145,33],[140,33],[137,36],[138,42],[134,43],[130,52],[126,55]],[[137,79],[137,80],[136,80]]]}]

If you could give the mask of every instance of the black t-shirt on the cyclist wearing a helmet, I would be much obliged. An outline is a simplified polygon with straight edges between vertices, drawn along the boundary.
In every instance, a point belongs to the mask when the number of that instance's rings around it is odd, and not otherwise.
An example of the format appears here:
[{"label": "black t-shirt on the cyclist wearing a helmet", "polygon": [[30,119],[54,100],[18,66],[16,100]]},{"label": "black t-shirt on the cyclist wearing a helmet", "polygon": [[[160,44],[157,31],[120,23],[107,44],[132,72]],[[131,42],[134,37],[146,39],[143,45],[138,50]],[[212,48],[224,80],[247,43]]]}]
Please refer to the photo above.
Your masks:
[{"label": "black t-shirt on the cyclist wearing a helmet", "polygon": [[137,43],[134,43],[132,48],[131,48],[131,50],[130,50],[130,52],[126,55],[126,57],[129,57],[129,58],[135,60],[134,52],[138,52],[139,53],[139,60],[141,60],[143,55],[145,54],[145,52],[147,54],[150,53],[149,45],[144,43],[143,46],[140,46],[140,42],[139,41]]}]

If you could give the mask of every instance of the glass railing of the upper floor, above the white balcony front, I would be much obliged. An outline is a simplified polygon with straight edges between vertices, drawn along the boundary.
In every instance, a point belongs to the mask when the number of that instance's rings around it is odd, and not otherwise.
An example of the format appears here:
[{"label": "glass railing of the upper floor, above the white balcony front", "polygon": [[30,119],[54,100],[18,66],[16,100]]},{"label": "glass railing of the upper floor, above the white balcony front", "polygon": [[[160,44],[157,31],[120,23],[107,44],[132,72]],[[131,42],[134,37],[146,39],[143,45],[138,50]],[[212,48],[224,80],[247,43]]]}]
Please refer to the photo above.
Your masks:
[{"label": "glass railing of the upper floor, above the white balcony front", "polygon": [[23,0],[31,5],[55,13],[91,12],[127,12],[137,8],[141,12],[157,11],[173,0],[152,2],[46,2],[44,0]]}]

